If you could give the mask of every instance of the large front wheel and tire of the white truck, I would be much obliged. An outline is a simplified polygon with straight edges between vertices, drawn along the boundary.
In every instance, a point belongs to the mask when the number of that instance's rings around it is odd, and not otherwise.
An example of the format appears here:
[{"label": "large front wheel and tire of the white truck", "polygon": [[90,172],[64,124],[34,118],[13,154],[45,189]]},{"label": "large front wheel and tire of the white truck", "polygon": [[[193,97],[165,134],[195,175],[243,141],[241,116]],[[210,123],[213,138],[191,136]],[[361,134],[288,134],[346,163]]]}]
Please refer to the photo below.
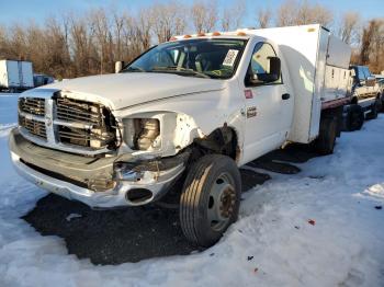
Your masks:
[{"label": "large front wheel and tire of the white truck", "polygon": [[208,154],[197,160],[180,198],[180,222],[187,239],[200,246],[216,243],[237,220],[240,196],[240,172],[233,159]]}]

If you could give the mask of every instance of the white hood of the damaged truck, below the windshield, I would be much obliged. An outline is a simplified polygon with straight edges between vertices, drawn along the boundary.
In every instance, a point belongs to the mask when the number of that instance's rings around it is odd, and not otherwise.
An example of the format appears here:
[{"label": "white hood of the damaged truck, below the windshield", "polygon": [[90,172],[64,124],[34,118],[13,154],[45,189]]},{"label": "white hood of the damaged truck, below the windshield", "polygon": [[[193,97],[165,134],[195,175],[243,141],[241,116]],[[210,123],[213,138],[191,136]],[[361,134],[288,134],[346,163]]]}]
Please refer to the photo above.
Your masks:
[{"label": "white hood of the damaged truck, below the windshield", "polygon": [[223,80],[172,73],[125,72],[64,80],[42,89],[83,94],[89,100],[92,100],[92,96],[104,99],[113,110],[121,110],[171,96],[222,90],[224,84]]}]

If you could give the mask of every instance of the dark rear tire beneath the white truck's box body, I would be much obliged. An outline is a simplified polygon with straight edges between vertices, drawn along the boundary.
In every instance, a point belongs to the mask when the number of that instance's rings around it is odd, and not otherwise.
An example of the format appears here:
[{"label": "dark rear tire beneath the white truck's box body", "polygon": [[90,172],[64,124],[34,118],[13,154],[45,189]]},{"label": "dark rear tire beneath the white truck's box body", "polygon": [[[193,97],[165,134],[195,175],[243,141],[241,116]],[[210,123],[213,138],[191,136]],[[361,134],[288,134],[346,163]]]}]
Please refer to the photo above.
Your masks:
[{"label": "dark rear tire beneath the white truck's box body", "polygon": [[337,133],[337,118],[326,117],[321,120],[319,135],[315,141],[315,149],[319,154],[326,156],[334,153]]}]

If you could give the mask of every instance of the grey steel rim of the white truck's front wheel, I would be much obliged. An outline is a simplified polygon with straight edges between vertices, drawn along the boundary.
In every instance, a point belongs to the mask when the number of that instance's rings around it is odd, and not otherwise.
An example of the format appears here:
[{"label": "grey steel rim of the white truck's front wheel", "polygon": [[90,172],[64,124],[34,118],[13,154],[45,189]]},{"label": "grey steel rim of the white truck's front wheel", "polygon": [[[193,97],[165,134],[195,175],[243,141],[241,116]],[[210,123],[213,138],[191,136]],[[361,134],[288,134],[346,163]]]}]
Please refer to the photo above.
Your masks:
[{"label": "grey steel rim of the white truck's front wheel", "polygon": [[207,221],[215,231],[224,229],[231,218],[236,205],[234,179],[222,173],[214,181],[208,197]]}]

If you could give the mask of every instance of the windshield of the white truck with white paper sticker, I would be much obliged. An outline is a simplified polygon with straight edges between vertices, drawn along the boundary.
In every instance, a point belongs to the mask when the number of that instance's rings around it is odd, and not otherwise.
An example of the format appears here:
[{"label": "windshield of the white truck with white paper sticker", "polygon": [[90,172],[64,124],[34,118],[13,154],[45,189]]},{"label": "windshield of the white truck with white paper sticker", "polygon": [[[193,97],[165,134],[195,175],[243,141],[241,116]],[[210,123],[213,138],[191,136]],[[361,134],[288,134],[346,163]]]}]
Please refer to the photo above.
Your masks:
[{"label": "windshield of the white truck with white paper sticker", "polygon": [[189,39],[165,43],[143,54],[122,72],[169,72],[228,79],[236,71],[245,39]]}]

